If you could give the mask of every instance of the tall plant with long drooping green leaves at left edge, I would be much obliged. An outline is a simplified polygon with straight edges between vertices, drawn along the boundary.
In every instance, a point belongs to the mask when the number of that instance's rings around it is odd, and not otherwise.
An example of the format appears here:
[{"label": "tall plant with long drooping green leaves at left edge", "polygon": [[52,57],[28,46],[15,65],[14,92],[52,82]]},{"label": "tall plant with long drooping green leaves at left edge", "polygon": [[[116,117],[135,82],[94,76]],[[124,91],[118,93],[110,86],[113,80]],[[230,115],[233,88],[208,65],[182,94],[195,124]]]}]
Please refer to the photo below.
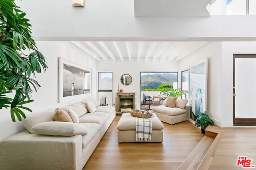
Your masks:
[{"label": "tall plant with long drooping green leaves at left edge", "polygon": [[[32,88],[40,87],[35,73],[48,68],[31,36],[31,25],[14,0],[0,0],[0,109],[10,108],[12,121],[26,118],[22,109],[30,100]],[[6,94],[15,95],[7,97]]]}]

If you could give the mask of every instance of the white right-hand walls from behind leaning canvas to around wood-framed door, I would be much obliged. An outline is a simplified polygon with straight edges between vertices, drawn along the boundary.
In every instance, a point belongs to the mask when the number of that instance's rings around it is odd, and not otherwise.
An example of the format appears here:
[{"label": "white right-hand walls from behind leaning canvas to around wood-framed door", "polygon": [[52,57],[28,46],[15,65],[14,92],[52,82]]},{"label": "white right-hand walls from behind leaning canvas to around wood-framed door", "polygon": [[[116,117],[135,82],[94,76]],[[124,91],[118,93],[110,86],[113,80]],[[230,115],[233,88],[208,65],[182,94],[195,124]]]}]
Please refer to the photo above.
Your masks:
[{"label": "white right-hand walls from behind leaning canvas to around wood-framed door", "polygon": [[233,54],[256,54],[255,46],[256,42],[212,42],[180,61],[182,71],[208,57],[206,111],[220,127],[233,127]]}]

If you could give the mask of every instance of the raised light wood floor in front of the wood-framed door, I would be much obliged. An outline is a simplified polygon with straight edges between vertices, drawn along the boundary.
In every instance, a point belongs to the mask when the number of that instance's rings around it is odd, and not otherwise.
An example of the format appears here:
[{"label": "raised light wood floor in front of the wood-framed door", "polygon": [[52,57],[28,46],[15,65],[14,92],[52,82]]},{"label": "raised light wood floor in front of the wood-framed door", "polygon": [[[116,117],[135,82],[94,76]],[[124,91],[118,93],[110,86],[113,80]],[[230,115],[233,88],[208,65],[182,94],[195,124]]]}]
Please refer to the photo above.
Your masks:
[{"label": "raised light wood floor in front of the wood-framed door", "polygon": [[241,170],[236,166],[238,156],[247,156],[252,159],[256,169],[256,127],[228,127],[213,126],[212,130],[223,133],[222,140],[210,164],[209,170]]}]

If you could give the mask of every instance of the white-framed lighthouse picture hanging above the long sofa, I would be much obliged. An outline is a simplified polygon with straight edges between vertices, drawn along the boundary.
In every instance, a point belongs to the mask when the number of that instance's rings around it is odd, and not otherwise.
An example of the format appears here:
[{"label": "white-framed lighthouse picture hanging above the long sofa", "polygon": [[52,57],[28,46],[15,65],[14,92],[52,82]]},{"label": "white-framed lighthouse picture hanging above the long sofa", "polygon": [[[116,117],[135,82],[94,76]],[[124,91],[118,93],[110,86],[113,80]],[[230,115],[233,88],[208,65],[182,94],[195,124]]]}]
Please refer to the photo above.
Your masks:
[{"label": "white-framed lighthouse picture hanging above the long sofa", "polygon": [[91,69],[58,58],[58,103],[91,96]]}]

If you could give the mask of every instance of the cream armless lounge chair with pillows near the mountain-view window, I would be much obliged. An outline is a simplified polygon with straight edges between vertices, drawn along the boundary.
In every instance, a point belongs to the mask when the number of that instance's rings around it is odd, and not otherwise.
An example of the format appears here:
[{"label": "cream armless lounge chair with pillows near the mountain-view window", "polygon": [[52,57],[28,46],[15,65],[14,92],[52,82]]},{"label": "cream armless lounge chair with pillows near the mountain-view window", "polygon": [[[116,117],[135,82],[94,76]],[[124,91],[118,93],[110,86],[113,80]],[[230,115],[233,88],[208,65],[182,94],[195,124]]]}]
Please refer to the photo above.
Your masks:
[{"label": "cream armless lounge chair with pillows near the mountain-view window", "polygon": [[168,107],[166,106],[166,101],[169,98],[170,97],[164,100],[162,106],[152,107],[152,113],[155,113],[161,121],[171,125],[182,121],[188,121],[190,111],[190,107],[186,105],[188,100],[178,98],[174,103],[172,103],[172,107]]}]

